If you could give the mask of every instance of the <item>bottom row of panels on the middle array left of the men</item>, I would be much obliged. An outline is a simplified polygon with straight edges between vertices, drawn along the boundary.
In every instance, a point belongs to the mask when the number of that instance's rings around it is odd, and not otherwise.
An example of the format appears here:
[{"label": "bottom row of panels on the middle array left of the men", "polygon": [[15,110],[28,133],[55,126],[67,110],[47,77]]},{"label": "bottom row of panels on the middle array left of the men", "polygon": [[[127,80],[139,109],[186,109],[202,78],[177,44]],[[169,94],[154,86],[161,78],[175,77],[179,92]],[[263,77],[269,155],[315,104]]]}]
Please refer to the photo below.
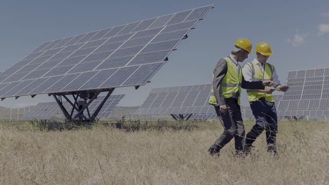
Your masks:
[{"label": "bottom row of panels on the middle array left of the men", "polygon": [[136,115],[170,115],[170,114],[216,114],[213,106],[189,106],[166,108],[139,108]]}]

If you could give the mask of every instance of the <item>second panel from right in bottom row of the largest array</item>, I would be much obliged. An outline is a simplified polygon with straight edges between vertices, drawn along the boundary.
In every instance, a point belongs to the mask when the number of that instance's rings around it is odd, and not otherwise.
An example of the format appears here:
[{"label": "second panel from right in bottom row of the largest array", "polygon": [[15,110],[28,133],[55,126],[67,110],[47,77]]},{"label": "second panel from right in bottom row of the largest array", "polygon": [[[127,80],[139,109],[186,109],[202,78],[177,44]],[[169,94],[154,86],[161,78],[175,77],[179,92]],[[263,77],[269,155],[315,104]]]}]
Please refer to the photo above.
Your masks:
[{"label": "second panel from right in bottom row of the largest array", "polygon": [[115,87],[120,86],[132,73],[138,68],[138,66],[123,67],[114,73],[112,77],[106,80],[100,87]]}]

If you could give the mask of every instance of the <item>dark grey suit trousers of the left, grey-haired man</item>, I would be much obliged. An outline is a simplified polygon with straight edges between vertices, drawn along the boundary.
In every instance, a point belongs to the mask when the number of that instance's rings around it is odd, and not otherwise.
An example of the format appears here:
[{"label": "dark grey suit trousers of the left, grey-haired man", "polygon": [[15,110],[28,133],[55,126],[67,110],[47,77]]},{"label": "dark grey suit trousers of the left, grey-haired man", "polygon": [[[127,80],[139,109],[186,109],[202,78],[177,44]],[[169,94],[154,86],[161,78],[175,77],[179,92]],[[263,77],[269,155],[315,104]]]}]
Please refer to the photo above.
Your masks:
[{"label": "dark grey suit trousers of the left, grey-haired man", "polygon": [[227,106],[226,115],[220,112],[220,107],[215,106],[216,114],[224,127],[224,132],[215,143],[210,146],[209,150],[219,152],[222,147],[234,137],[235,150],[237,152],[243,151],[245,127],[242,121],[240,106],[234,98],[225,98],[225,101]]}]

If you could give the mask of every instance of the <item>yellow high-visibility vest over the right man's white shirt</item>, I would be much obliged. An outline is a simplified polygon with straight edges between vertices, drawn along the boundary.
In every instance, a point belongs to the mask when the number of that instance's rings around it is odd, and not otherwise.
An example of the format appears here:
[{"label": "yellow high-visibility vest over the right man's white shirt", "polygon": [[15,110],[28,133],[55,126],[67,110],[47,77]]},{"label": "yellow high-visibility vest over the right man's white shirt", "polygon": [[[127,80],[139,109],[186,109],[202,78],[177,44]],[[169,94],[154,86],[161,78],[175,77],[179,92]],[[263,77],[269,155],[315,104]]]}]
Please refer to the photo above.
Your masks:
[{"label": "yellow high-visibility vest over the right man's white shirt", "polygon": [[[262,69],[257,64],[253,64],[252,62],[248,62],[245,65],[248,65],[251,68],[252,72],[252,81],[263,81],[263,80],[272,80],[272,74],[274,71],[274,66],[269,63],[264,64],[264,73]],[[271,88],[270,86],[265,86],[265,88]],[[247,95],[249,103],[253,101],[257,101],[260,98],[265,98],[266,101],[274,102],[274,98],[272,94],[267,94],[263,92],[254,92],[250,89],[247,89]]]}]

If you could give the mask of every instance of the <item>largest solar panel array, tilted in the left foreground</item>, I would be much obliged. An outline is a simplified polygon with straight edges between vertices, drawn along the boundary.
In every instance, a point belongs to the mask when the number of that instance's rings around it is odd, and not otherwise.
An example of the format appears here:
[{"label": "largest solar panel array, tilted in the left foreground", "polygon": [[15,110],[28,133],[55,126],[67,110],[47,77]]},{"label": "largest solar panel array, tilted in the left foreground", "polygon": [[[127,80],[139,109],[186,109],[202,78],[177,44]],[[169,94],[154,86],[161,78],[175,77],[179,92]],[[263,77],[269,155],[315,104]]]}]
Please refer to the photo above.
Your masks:
[{"label": "largest solar panel array, tilted in the left foreground", "polygon": [[0,98],[144,85],[212,7],[45,42],[0,74]]}]

